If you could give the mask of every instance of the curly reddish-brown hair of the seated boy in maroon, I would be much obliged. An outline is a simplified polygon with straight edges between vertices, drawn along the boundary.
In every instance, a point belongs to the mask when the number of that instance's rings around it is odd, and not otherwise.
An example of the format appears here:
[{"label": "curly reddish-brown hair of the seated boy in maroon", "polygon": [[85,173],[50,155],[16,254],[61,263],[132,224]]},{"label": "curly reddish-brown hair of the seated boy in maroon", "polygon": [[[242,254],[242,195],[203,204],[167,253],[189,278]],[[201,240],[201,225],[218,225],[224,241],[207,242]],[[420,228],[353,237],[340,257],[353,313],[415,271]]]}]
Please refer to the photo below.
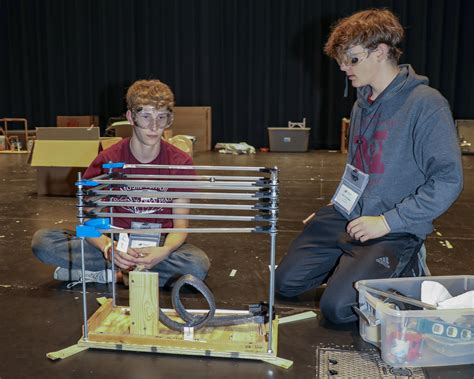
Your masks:
[{"label": "curly reddish-brown hair of the seated boy in maroon", "polygon": [[170,87],[159,80],[137,80],[127,91],[127,108],[131,111],[145,105],[172,110],[174,95]]}]

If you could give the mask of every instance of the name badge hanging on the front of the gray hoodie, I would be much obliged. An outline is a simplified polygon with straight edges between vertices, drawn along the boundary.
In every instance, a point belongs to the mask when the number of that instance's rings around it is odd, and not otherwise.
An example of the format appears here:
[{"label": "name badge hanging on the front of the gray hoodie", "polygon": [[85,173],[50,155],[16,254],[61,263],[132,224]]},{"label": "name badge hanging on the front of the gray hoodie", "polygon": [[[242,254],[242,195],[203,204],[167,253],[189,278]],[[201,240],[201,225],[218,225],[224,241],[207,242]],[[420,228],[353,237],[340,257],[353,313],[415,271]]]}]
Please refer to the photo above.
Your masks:
[{"label": "name badge hanging on the front of the gray hoodie", "polygon": [[347,215],[351,214],[368,182],[369,174],[358,170],[350,164],[346,164],[341,182],[331,202]]}]

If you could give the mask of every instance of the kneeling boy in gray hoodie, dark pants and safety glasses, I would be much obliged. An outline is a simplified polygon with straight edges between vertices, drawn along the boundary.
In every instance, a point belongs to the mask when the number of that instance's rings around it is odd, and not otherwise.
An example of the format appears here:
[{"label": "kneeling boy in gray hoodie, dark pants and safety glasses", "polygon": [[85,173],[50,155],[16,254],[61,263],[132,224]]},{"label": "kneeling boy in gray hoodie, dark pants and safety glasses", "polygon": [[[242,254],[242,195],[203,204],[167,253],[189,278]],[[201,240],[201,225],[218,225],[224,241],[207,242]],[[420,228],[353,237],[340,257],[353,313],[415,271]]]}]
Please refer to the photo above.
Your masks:
[{"label": "kneeling boy in gray hoodie, dark pants and safety glasses", "polygon": [[398,65],[403,34],[393,13],[367,10],[340,20],[325,46],[357,88],[347,165],[278,265],[276,291],[292,297],[329,278],[320,307],[334,323],[356,320],[356,281],[423,274],[418,251],[462,190],[449,104]]}]

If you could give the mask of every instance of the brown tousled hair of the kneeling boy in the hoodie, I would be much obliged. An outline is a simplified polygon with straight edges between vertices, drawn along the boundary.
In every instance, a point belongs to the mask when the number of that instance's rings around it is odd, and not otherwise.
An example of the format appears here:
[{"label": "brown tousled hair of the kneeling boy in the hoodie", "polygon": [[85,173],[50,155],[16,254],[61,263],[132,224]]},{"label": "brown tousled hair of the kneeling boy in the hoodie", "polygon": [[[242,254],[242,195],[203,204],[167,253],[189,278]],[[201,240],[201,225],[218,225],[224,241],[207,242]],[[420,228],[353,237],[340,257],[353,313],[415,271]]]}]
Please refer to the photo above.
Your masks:
[{"label": "brown tousled hair of the kneeling boy in the hoodie", "polygon": [[404,30],[392,12],[387,9],[369,9],[339,20],[331,30],[324,52],[339,59],[353,46],[375,49],[380,43],[389,47],[388,58],[397,63],[402,55],[399,45]]}]

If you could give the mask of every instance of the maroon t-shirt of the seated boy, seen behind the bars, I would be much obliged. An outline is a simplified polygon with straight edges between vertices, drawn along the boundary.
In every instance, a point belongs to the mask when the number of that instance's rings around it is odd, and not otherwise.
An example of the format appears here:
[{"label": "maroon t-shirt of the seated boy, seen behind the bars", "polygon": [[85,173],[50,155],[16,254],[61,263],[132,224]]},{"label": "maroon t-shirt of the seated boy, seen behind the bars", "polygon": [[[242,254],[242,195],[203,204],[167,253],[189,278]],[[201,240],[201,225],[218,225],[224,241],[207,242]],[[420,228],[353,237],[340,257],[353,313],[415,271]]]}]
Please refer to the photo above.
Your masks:
[{"label": "maroon t-shirt of the seated boy, seen behind the bars", "polygon": [[[94,161],[89,165],[86,172],[84,173],[84,179],[92,179],[98,175],[108,172],[108,169],[103,169],[102,164],[108,162],[122,162],[126,164],[141,164],[130,150],[130,138],[123,139],[122,141],[112,145],[108,149],[99,153],[99,155],[94,159]],[[167,143],[166,141],[161,141],[160,153],[158,156],[151,162],[147,164],[154,165],[192,165],[192,158],[178,149],[177,147]],[[193,169],[189,170],[170,170],[170,169],[114,169],[117,172],[123,172],[125,174],[138,174],[138,175],[195,175],[196,172]],[[140,178],[137,178],[140,179]],[[157,179],[157,180],[166,180],[166,179]],[[171,203],[172,198],[149,198],[149,197],[130,197],[119,195],[120,190],[141,190],[141,191],[156,191],[152,188],[136,188],[134,186],[122,186],[117,189],[117,196],[109,196],[109,199],[112,201],[128,201],[128,202],[156,202],[156,203]],[[173,189],[168,187],[159,188],[160,192],[167,191],[179,191],[186,192],[189,189]],[[104,209],[105,211],[105,209]],[[162,225],[162,228],[172,228],[173,220],[172,219],[161,219],[161,218],[134,218],[134,213],[141,214],[171,214],[172,208],[161,208],[161,207],[114,207],[114,213],[130,213],[130,218],[119,218],[116,217],[113,219],[114,226],[120,228],[129,229],[131,227],[132,221],[138,222],[151,222],[159,223]]]}]

